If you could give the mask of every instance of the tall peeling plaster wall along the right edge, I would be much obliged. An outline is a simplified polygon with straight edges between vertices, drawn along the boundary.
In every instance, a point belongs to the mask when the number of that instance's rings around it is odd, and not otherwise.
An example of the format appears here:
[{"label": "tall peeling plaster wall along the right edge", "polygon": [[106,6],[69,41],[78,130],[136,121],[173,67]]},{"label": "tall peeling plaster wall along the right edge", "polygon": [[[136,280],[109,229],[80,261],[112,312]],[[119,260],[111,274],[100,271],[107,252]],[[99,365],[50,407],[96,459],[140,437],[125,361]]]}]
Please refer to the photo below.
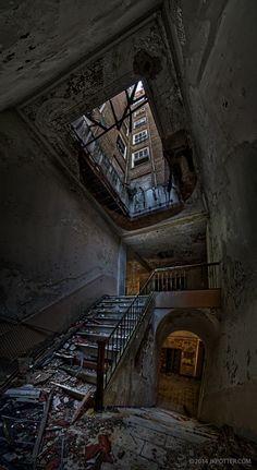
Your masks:
[{"label": "tall peeling plaster wall along the right edge", "polygon": [[204,415],[256,437],[257,4],[168,3],[210,210],[209,258],[223,264],[221,333]]}]

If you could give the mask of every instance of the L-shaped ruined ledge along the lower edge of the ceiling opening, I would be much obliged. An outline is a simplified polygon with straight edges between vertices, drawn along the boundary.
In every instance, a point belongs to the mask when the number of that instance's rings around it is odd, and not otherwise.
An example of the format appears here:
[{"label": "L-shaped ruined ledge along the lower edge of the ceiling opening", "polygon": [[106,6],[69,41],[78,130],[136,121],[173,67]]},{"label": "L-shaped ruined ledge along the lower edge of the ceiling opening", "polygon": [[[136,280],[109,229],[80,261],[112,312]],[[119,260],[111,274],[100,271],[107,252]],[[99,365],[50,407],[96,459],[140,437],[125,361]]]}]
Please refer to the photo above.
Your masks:
[{"label": "L-shaped ruined ledge along the lower edge of the ceiling opening", "polygon": [[105,207],[111,218],[127,230],[156,224],[179,214],[184,203],[172,184],[158,184],[133,192],[106,155],[99,140],[88,144],[90,132],[87,121],[76,124],[75,134],[81,142],[79,170],[82,181]]}]

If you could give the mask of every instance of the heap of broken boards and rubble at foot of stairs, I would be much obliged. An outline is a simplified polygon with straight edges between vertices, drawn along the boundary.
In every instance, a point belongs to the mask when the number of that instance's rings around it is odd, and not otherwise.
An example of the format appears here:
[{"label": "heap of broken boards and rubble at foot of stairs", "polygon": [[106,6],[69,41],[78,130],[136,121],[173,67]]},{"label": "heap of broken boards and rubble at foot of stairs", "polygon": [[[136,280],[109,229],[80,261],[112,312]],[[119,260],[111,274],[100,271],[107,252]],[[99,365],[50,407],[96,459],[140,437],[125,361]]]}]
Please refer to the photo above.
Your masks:
[{"label": "heap of broken boards and rubble at foot of stairs", "polygon": [[[109,436],[122,424],[114,415],[99,419],[94,412],[95,386],[62,371],[54,355],[30,375],[20,379],[0,400],[0,468],[19,470],[91,467],[111,461]],[[1,467],[2,466],[2,467]]]}]

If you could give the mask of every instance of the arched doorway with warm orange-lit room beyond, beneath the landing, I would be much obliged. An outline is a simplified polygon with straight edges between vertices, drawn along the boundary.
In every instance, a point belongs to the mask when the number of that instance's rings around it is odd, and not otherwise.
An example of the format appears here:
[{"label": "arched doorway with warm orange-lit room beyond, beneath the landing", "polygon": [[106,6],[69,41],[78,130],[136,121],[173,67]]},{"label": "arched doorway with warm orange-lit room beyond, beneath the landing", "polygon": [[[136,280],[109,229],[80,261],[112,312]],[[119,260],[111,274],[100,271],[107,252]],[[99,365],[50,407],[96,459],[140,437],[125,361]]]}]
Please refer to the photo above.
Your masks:
[{"label": "arched doorway with warm orange-lit room beyond, beneath the landing", "polygon": [[197,415],[205,360],[204,342],[188,330],[168,335],[159,349],[157,403]]}]

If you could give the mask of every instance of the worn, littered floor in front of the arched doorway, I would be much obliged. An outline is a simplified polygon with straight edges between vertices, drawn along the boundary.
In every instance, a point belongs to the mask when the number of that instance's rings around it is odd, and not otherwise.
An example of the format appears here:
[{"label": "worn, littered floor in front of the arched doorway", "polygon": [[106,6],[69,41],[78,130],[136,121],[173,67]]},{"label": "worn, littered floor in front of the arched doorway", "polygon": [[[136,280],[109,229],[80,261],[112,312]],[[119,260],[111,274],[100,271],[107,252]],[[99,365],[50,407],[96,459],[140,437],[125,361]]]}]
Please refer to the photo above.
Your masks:
[{"label": "worn, littered floor in front of the arched doorway", "polygon": [[[234,458],[233,470],[254,469],[257,448],[238,445],[232,430],[218,430],[176,412],[160,408],[115,408],[96,414],[88,410],[75,424],[56,433],[56,438],[45,441],[45,459],[52,446],[61,453],[60,439],[64,439],[62,463],[57,459],[37,468],[64,470],[188,470],[231,469],[225,459]],[[85,458],[99,446],[106,436],[103,451]],[[63,441],[61,441],[63,442]],[[238,465],[238,459],[245,459]],[[54,460],[53,460],[54,462]],[[60,463],[62,467],[60,467]]]}]

